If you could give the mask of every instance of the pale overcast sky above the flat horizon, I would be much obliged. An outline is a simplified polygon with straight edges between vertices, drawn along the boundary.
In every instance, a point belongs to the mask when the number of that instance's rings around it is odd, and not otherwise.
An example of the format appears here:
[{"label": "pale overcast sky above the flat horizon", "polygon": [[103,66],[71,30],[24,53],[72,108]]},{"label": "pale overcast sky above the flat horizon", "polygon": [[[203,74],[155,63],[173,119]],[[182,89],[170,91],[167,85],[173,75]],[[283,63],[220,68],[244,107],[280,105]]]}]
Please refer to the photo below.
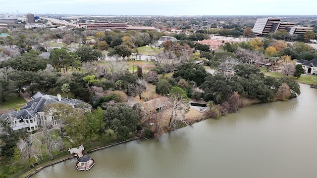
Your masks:
[{"label": "pale overcast sky above the flat horizon", "polygon": [[317,0],[0,0],[0,13],[317,15]]}]

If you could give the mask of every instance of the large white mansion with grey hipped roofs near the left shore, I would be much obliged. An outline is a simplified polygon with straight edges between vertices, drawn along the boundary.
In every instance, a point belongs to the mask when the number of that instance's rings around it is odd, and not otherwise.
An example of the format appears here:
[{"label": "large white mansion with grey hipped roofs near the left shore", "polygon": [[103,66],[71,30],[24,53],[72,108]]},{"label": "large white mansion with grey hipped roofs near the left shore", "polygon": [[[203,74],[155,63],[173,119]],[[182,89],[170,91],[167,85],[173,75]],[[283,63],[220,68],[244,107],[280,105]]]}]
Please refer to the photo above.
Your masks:
[{"label": "large white mansion with grey hipped roofs near the left shore", "polygon": [[47,114],[44,111],[44,106],[51,103],[68,104],[72,108],[83,109],[84,112],[90,111],[91,106],[79,99],[63,98],[60,94],[57,96],[37,92],[32,101],[29,101],[18,111],[4,113],[0,119],[11,122],[13,131],[24,129],[26,132],[32,132],[38,129],[39,125],[52,123],[58,124],[54,115]]}]

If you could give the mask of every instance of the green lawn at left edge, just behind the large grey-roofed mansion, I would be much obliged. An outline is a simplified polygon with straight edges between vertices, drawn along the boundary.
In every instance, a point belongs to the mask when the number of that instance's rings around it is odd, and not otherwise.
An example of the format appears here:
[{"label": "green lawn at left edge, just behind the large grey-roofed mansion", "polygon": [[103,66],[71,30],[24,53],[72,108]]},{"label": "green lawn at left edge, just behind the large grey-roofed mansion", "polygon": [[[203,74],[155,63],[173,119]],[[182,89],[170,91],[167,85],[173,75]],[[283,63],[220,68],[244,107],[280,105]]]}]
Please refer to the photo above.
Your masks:
[{"label": "green lawn at left edge, just behind the large grey-roofed mansion", "polygon": [[6,101],[1,101],[1,110],[15,109],[24,106],[26,100],[22,96],[18,96],[18,93],[10,93],[6,97]]}]

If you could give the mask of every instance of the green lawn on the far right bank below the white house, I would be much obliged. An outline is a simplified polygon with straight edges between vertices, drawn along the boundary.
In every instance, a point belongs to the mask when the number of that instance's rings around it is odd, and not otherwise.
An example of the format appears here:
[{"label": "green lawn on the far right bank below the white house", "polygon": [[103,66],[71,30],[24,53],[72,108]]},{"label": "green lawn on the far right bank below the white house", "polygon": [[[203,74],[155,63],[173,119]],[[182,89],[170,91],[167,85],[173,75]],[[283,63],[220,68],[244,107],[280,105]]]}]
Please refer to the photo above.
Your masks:
[{"label": "green lawn on the far right bank below the white house", "polygon": [[[266,68],[261,68],[261,72],[264,73],[265,76],[271,76],[274,78],[281,78],[281,77],[286,77],[285,75],[279,73],[279,72],[269,72],[266,70]],[[290,79],[293,79],[294,81],[302,84],[314,84],[317,85],[317,76],[316,75],[302,75],[300,78],[296,77],[288,77]]]}]

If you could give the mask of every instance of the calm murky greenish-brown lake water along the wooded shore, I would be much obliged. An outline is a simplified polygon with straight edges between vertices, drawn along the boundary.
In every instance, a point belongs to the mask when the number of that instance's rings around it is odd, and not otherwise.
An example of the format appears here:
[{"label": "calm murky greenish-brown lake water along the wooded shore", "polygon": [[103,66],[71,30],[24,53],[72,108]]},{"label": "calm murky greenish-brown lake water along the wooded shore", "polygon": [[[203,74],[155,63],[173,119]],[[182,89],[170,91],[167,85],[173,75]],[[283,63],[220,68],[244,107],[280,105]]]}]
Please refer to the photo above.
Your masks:
[{"label": "calm murky greenish-brown lake water along the wooded shore", "polygon": [[86,172],[72,159],[32,178],[317,178],[317,89],[301,91],[159,140],[93,152],[96,164]]}]

